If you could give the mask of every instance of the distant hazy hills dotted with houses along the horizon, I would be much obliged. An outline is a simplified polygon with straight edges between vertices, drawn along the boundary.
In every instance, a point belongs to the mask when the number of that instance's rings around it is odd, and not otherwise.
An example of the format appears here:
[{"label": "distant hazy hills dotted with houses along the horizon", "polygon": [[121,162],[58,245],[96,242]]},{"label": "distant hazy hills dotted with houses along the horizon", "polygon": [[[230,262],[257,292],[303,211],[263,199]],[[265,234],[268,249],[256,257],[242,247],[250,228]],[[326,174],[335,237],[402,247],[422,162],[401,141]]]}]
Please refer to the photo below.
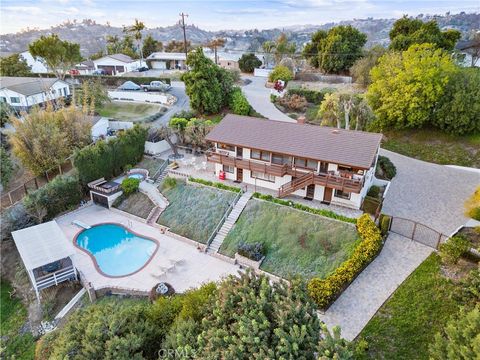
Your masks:
[{"label": "distant hazy hills dotted with houses along the horizon", "polygon": [[[472,32],[480,31],[480,14],[460,13],[445,15],[418,15],[417,18],[423,21],[437,20],[441,28],[454,28],[462,32],[464,39]],[[388,32],[396,19],[354,19],[337,23],[323,25],[296,25],[284,29],[268,30],[221,30],[206,31],[194,25],[187,27],[187,38],[193,44],[204,44],[214,37],[227,39],[226,49],[238,51],[255,51],[266,40],[273,40],[284,31],[291,41],[297,44],[297,48],[310,40],[310,36],[318,29],[329,29],[336,25],[352,25],[368,36],[367,46],[373,44],[388,45]],[[29,29],[16,34],[0,35],[1,52],[20,52],[27,49],[28,44],[38,39],[41,35],[56,33],[61,39],[80,44],[83,56],[96,53],[105,48],[107,35],[122,36],[122,28],[110,26],[109,24],[98,24],[93,20],[82,22],[67,21],[61,25],[52,26],[50,29],[38,30]],[[167,27],[151,28],[144,31],[145,34],[152,34],[155,39],[166,43],[171,40],[183,40],[182,28],[179,24]]]}]

